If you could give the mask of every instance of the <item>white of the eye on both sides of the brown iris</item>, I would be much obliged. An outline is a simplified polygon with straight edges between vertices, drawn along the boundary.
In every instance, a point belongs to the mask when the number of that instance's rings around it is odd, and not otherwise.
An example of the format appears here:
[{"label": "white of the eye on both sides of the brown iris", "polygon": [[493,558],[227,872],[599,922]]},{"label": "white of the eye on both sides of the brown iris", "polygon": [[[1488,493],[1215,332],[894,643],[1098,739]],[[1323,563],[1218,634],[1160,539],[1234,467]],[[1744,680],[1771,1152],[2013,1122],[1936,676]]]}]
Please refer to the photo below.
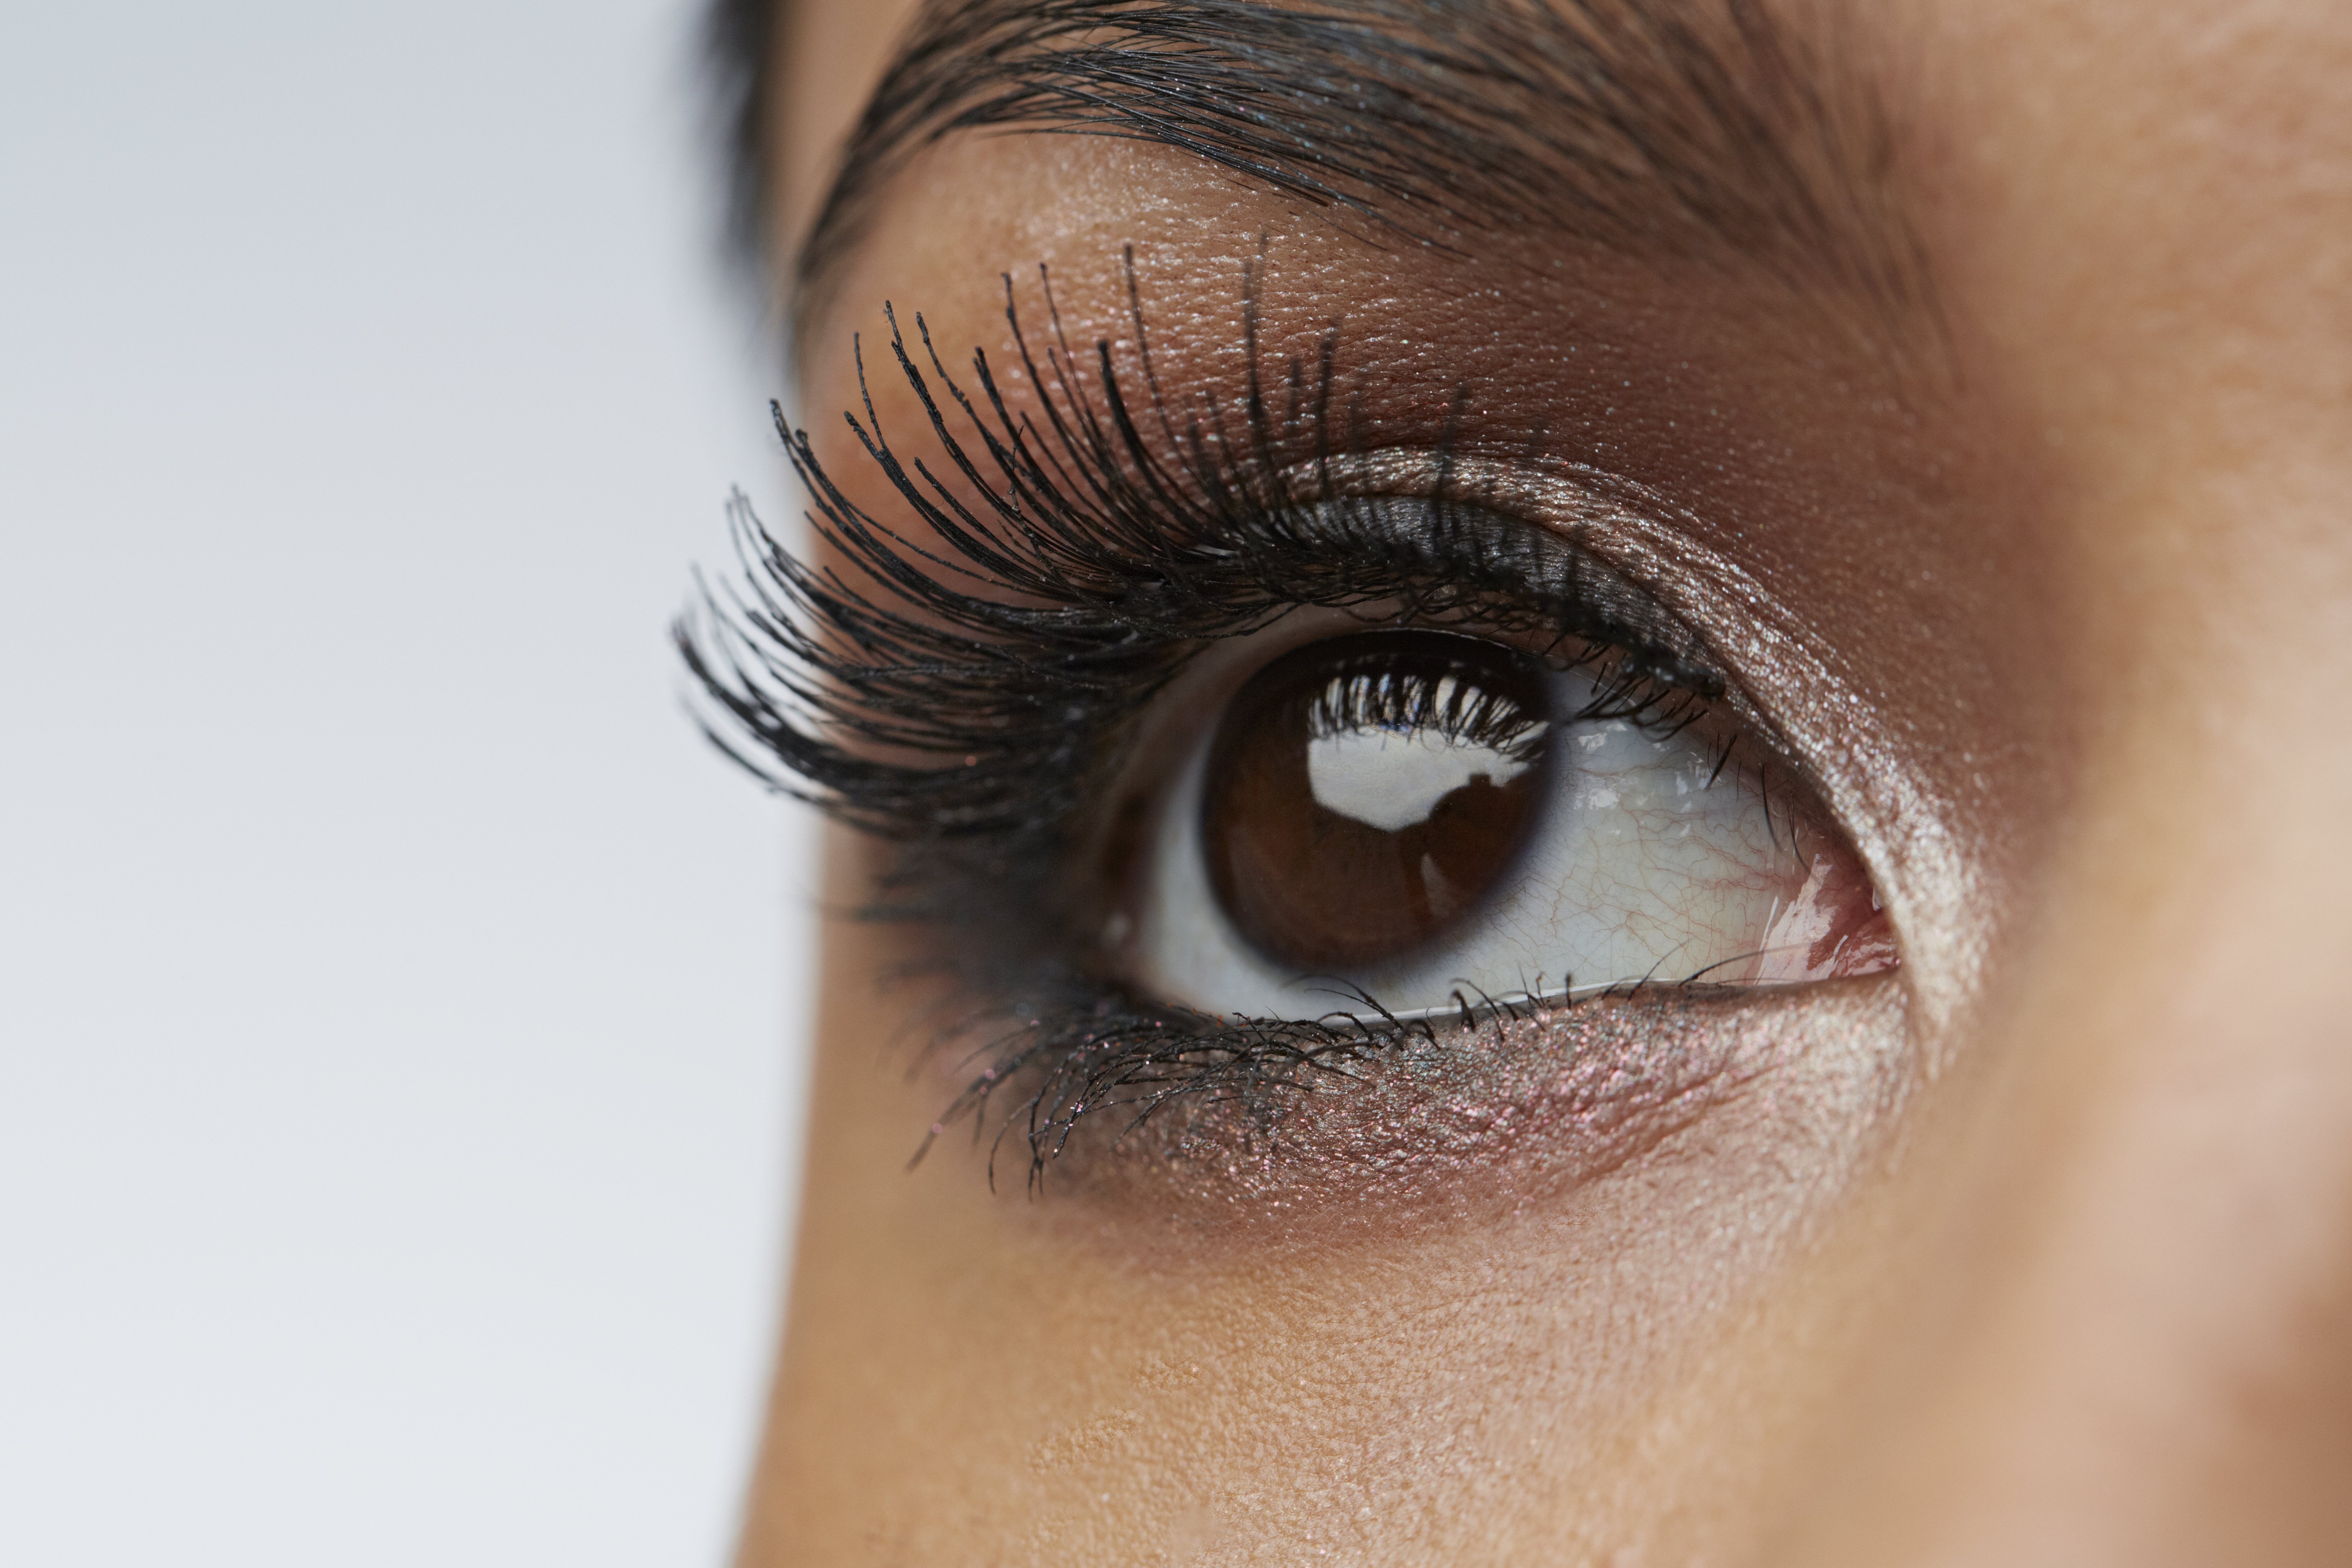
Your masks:
[{"label": "white of the eye on both sides of the brown iris", "polygon": [[[1548,679],[1557,715],[1595,698],[1581,670]],[[1411,736],[1362,736],[1329,750],[1315,776],[1317,799],[1390,830],[1418,820],[1416,804],[1425,811],[1472,771],[1503,783],[1517,766],[1501,752],[1421,745]],[[1169,1001],[1254,1018],[1367,1013],[1352,987],[1404,1016],[1454,1011],[1456,990],[1477,1001],[1479,992],[1748,978],[1773,917],[1804,884],[1804,865],[1788,832],[1766,820],[1755,783],[1740,769],[1717,773],[1717,762],[1719,752],[1691,731],[1658,738],[1628,719],[1564,724],[1552,736],[1550,788],[1526,849],[1470,914],[1418,952],[1303,976],[1242,938],[1209,884],[1204,736],[1152,839],[1136,978]]]}]

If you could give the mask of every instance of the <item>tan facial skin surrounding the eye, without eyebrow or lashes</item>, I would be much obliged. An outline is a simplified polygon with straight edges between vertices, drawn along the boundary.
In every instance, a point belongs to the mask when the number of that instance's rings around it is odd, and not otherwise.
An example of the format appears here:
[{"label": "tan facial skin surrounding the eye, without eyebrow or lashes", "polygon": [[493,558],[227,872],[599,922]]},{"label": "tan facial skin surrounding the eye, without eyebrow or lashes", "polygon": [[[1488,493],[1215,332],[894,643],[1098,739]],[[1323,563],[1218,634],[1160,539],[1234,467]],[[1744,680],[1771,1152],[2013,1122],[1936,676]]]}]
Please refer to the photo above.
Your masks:
[{"label": "tan facial skin surrounding the eye, without eyebrow or lashes", "polygon": [[[776,254],[908,16],[788,7]],[[1247,270],[1261,364],[1336,334],[1364,487],[1444,451],[1722,651],[1903,966],[1503,1023],[1030,1190],[962,1128],[908,1168],[964,1074],[882,978],[936,938],[833,922],[743,1563],[2343,1561],[2352,12],[1832,24],[1900,87],[1922,299],[1432,247],[1105,136],[877,186],[795,343],[856,505],[851,334],[934,454],[884,301],[1035,409],[1044,266],[1082,353],[1141,313],[1230,397]],[[830,863],[856,907],[884,853]]]}]

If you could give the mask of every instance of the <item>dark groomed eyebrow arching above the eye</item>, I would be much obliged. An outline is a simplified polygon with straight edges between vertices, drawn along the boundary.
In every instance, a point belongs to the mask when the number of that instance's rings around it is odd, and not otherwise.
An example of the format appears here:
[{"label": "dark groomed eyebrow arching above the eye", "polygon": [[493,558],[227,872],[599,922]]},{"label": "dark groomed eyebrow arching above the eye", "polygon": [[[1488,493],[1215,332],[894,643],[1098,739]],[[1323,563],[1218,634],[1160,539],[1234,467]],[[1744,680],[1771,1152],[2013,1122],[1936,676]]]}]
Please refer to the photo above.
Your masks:
[{"label": "dark groomed eyebrow arching above the eye", "polygon": [[1157,141],[1439,249],[1538,226],[1915,303],[1893,125],[1849,38],[1759,0],[946,0],[844,143],[795,315],[891,174],[983,127]]}]

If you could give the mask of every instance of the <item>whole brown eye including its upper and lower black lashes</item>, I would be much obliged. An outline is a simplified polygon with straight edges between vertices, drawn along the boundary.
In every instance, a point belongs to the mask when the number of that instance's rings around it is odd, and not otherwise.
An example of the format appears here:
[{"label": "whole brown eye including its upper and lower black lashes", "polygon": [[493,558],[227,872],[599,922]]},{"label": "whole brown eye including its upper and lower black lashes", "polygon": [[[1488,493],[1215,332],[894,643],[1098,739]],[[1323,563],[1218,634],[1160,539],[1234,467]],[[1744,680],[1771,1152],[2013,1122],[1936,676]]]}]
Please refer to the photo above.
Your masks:
[{"label": "whole brown eye including its upper and lower black lashes", "polygon": [[713,738],[884,851],[868,912],[922,933],[955,1070],[934,1138],[1033,1178],[1138,1128],[1197,1159],[1555,1058],[1668,1103],[1724,1065],[1658,1051],[1696,1011],[1733,1041],[1745,997],[1896,966],[1804,748],[1623,496],[1545,512],[1526,454],[1383,444],[1336,327],[1272,367],[1244,331],[1185,395],[1141,303],[1122,357],[1051,294],[1035,348],[1004,289],[1014,364],[950,374],[896,317],[861,350],[887,484],[795,433],[816,548],[741,512],[743,588],[680,628]]}]

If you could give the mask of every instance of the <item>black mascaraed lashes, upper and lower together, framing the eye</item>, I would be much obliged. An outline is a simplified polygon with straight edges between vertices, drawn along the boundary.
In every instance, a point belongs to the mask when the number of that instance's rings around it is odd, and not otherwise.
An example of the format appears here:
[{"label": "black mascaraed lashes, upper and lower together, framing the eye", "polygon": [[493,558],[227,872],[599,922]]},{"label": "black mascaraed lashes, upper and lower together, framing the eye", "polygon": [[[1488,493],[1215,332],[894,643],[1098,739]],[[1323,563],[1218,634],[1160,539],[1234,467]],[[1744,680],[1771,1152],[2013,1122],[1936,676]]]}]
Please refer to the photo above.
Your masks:
[{"label": "black mascaraed lashes, upper and lower together, framing the eye", "polygon": [[[983,353],[967,393],[922,317],[917,357],[891,315],[891,357],[946,473],[884,437],[861,353],[863,418],[844,418],[906,517],[854,503],[779,414],[816,550],[779,543],[739,498],[743,583],[706,585],[675,625],[722,752],[898,844],[868,914],[953,926],[927,969],[985,978],[988,994],[1018,990],[941,1030],[941,1048],[971,1048],[981,1065],[934,1133],[960,1114],[981,1131],[1011,1093],[997,1138],[1025,1143],[1030,1180],[1096,1110],[1141,1124],[1185,1100],[1251,1100],[1430,1037],[1371,997],[1322,1020],[1209,1018],[1089,971],[1096,933],[1073,926],[1056,879],[1117,736],[1202,644],[1296,607],[1378,604],[1383,621],[1618,649],[1602,682],[1609,710],[1661,729],[1719,691],[1693,639],[1644,618],[1639,595],[1550,536],[1498,527],[1444,480],[1411,503],[1414,529],[1397,527],[1392,501],[1345,491],[1331,465],[1355,418],[1338,397],[1338,334],[1322,336],[1312,369],[1291,360],[1268,388],[1249,273],[1240,407],[1200,395],[1178,418],[1127,266],[1141,418],[1108,341],[1082,371],[1042,273],[1042,350],[1004,280],[1035,411],[1009,407]],[[1463,1016],[1491,1006],[1463,1001]]]}]

